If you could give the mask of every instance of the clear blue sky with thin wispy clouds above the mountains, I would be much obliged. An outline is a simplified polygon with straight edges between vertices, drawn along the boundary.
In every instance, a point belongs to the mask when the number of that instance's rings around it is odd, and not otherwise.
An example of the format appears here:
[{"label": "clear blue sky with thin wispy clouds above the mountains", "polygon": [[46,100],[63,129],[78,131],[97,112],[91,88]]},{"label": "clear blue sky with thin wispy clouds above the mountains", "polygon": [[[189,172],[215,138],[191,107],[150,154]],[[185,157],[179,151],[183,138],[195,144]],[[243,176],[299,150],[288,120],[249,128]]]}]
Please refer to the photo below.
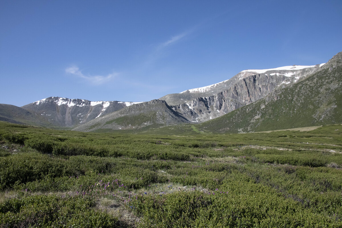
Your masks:
[{"label": "clear blue sky with thin wispy clouds above the mountains", "polygon": [[245,69],[327,62],[342,1],[0,2],[0,103],[140,102]]}]

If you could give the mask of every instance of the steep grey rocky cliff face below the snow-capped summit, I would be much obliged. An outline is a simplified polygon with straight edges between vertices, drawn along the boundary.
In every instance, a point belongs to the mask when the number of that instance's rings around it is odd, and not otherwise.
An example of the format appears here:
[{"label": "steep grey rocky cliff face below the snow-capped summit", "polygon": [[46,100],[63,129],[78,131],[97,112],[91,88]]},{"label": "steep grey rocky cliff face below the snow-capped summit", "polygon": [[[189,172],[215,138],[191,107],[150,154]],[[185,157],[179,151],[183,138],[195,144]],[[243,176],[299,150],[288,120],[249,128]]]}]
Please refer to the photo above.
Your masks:
[{"label": "steep grey rocky cliff face below the snow-capped summit", "polygon": [[[275,89],[285,88],[307,75],[320,69],[320,66],[300,70],[267,70],[265,73],[246,77],[240,72],[235,84],[229,82],[230,87],[220,85],[223,91],[189,100],[186,103],[174,105],[172,109],[191,122],[205,122],[225,115],[235,109],[251,104],[272,93]],[[249,73],[250,74],[250,73]],[[240,78],[237,80],[237,78]],[[228,80],[229,81],[229,80]],[[223,82],[227,84],[227,81]],[[214,88],[215,91],[218,88]],[[186,91],[185,91],[186,92]],[[208,93],[209,91],[206,91]],[[189,91],[187,93],[190,93]],[[194,92],[193,94],[203,94]]]}]

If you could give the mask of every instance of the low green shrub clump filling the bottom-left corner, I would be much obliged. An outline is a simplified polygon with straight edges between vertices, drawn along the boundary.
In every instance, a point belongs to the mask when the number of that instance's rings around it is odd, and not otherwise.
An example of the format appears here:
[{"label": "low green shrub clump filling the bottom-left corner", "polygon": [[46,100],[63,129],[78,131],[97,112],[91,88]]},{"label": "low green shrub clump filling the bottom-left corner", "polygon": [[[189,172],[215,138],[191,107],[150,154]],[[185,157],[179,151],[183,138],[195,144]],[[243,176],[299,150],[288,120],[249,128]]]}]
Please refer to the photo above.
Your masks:
[{"label": "low green shrub clump filling the bottom-left corner", "polygon": [[0,204],[0,227],[117,227],[89,197],[31,196]]}]

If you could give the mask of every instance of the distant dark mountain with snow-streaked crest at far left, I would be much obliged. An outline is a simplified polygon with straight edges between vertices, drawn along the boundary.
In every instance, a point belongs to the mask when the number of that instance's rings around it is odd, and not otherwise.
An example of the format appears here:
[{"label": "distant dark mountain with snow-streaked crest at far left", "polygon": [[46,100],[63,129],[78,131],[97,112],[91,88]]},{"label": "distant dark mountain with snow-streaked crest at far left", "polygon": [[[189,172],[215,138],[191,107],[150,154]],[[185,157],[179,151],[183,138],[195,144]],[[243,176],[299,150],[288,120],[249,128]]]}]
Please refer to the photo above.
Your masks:
[{"label": "distant dark mountain with snow-streaked crest at far left", "polygon": [[48,97],[22,107],[0,104],[0,121],[63,129],[138,103]]}]

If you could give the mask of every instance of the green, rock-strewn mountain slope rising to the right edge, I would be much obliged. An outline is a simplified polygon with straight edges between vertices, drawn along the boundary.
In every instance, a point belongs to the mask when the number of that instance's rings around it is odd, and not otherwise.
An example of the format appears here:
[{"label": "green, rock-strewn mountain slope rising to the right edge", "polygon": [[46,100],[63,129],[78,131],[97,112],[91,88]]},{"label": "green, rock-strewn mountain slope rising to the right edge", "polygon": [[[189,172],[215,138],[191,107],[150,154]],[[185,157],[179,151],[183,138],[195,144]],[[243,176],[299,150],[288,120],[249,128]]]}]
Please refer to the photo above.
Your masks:
[{"label": "green, rock-strewn mountain slope rising to the right edge", "polygon": [[342,123],[342,52],[306,79],[196,127],[242,133],[336,123]]}]

